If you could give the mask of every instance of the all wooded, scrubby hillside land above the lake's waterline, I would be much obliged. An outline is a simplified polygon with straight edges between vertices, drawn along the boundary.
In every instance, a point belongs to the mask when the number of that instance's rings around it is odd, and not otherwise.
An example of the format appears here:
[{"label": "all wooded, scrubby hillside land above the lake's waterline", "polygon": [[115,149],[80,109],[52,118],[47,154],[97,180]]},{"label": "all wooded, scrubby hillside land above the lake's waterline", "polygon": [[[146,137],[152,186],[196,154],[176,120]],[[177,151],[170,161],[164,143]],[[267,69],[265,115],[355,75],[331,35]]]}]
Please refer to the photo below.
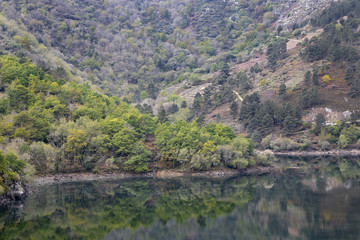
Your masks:
[{"label": "all wooded, scrubby hillside land above the lake's waterline", "polygon": [[[359,147],[360,3],[330,2],[304,19],[283,0],[0,1],[0,194],[34,174]],[[350,113],[305,121],[316,107]]]}]

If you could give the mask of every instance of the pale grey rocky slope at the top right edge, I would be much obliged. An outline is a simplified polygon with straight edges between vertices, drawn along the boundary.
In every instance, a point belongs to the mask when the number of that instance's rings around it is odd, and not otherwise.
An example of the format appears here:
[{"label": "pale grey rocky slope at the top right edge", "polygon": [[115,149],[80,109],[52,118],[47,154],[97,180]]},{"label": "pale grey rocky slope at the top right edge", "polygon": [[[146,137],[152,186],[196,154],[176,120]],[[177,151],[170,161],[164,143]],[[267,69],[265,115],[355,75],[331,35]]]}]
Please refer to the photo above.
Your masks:
[{"label": "pale grey rocky slope at the top right edge", "polygon": [[[276,2],[283,2],[278,0]],[[289,0],[274,7],[274,15],[278,17],[277,26],[289,30],[294,24],[307,24],[311,18],[329,7],[334,0]]]}]

